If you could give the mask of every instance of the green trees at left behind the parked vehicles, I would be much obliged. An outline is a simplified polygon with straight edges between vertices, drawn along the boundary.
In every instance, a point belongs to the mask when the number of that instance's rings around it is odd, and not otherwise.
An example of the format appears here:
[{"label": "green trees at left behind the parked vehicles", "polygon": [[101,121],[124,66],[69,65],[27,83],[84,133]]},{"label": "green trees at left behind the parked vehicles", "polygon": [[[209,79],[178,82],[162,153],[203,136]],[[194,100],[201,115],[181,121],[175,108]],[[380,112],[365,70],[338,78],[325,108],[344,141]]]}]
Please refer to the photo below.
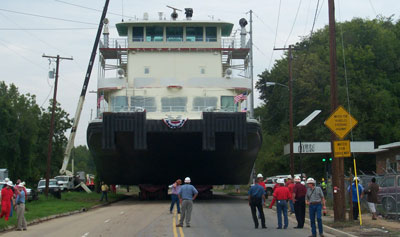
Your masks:
[{"label": "green trees at left behind the parked vehicles", "polygon": [[[34,95],[22,95],[18,88],[0,82],[0,167],[9,170],[11,180],[21,178],[37,184],[46,173],[51,104],[39,108]],[[51,176],[58,173],[72,126],[68,114],[57,104],[55,111]]]}]

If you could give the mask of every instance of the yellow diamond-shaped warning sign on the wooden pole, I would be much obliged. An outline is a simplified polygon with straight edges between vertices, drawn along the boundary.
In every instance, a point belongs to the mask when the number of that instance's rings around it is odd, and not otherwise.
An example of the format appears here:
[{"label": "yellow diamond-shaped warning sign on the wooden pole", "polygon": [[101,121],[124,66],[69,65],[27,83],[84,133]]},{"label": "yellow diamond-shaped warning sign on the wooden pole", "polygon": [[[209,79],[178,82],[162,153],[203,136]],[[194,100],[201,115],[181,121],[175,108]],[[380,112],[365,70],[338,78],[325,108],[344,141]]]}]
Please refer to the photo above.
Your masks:
[{"label": "yellow diamond-shaped warning sign on the wooden pole", "polygon": [[339,106],[325,121],[325,126],[340,137],[340,139],[343,139],[357,123],[358,121],[353,118],[353,116],[351,116],[342,106]]}]

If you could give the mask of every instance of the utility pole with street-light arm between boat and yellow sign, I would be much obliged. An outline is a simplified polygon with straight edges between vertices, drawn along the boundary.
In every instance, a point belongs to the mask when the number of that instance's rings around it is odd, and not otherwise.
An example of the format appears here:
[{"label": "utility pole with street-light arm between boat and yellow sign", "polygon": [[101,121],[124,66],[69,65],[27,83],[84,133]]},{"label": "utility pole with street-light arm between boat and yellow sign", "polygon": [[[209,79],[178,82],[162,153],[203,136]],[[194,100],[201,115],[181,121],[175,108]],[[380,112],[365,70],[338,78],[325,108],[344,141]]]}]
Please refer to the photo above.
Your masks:
[{"label": "utility pole with street-light arm between boat and yellow sign", "polygon": [[[289,50],[289,140],[290,140],[290,175],[294,178],[294,153],[293,153],[293,78],[292,78],[292,45],[289,48],[274,48],[274,50]],[[300,148],[301,149],[301,148]]]}]

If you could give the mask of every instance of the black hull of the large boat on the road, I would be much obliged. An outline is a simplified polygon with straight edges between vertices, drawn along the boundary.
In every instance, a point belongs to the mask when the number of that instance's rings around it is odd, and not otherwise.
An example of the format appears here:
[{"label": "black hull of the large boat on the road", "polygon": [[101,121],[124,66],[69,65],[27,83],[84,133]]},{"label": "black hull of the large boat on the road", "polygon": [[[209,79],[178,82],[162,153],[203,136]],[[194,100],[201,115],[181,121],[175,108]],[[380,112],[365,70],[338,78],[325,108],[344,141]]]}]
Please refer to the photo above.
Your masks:
[{"label": "black hull of the large boat on the road", "polygon": [[104,113],[87,129],[98,175],[108,184],[247,184],[262,143],[245,113],[203,113],[171,129],[145,112]]}]

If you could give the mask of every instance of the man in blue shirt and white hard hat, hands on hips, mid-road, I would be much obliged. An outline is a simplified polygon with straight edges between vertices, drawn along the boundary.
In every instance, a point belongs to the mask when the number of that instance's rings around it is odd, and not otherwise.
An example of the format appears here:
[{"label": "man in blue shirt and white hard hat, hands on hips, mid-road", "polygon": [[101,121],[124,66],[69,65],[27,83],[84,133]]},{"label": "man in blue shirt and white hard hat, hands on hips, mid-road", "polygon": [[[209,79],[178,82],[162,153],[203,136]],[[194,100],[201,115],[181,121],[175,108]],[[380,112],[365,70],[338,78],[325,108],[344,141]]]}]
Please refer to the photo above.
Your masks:
[{"label": "man in blue shirt and white hard hat, hands on hips, mid-road", "polygon": [[196,199],[199,192],[190,184],[189,177],[185,178],[185,184],[179,190],[178,197],[182,205],[181,219],[176,227],[183,227],[183,221],[186,218],[186,227],[190,227],[190,217],[192,215],[193,201]]}]

